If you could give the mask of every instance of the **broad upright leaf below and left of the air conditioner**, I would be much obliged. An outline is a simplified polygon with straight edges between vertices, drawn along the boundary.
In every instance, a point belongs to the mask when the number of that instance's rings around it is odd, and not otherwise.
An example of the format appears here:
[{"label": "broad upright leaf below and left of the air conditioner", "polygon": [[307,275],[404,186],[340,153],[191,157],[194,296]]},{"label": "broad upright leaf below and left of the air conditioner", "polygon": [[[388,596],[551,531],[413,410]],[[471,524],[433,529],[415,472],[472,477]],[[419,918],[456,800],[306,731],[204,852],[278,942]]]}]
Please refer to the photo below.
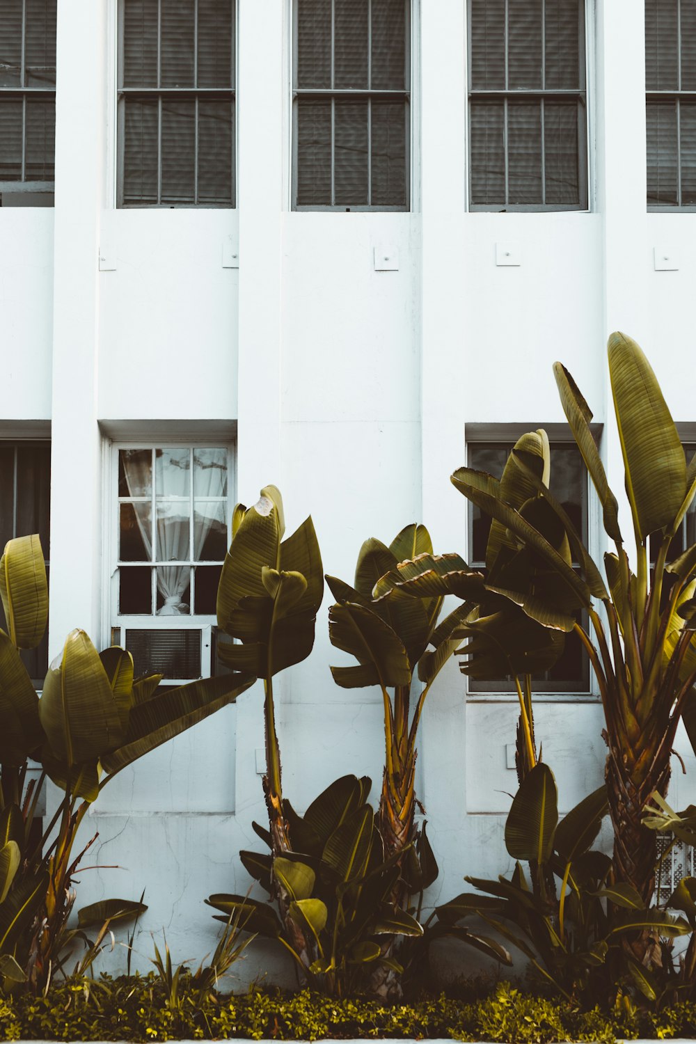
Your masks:
[{"label": "broad upright leaf below and left of the air conditioner", "polygon": [[39,714],[53,754],[68,767],[97,758],[121,742],[112,687],[83,631],[68,635],[59,662],[49,667]]}]

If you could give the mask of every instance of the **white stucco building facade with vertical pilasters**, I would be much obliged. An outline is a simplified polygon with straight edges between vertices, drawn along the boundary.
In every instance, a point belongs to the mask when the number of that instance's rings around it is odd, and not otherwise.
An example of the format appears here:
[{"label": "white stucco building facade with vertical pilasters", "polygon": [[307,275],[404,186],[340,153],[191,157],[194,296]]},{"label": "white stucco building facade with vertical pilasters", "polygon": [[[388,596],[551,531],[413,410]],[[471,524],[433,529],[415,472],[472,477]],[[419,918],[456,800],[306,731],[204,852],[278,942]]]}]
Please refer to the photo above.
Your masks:
[{"label": "white stucco building facade with vertical pilasters", "polygon": [[[75,626],[110,641],[115,433],[236,432],[231,500],[277,484],[288,531],[311,514],[325,570],[350,579],[365,538],[388,542],[411,521],[437,551],[465,556],[466,504],[449,481],[465,425],[563,421],[555,359],[605,423],[611,330],[642,345],[675,420],[696,421],[696,214],[646,213],[642,5],[590,4],[590,211],[469,213],[464,3],[413,2],[411,212],[307,213],[289,205],[289,2],[239,0],[237,209],[119,210],[115,0],[59,0],[55,208],[0,209],[2,434],[51,425],[51,656]],[[519,265],[497,265],[506,243]],[[386,247],[398,269],[375,270]],[[655,270],[655,250],[676,270]],[[610,428],[602,445],[619,491]],[[312,656],[277,684],[284,791],[298,809],[343,773],[370,775],[377,798],[382,772],[380,694],[341,690],[329,671],[341,662],[330,597]],[[566,810],[601,781],[601,708],[550,695],[536,715]],[[464,874],[508,869],[515,717],[512,697],[467,701],[455,662],[429,696],[418,797],[440,867],[431,901],[460,892]],[[120,869],[86,872],[78,904],[144,887],[142,967],[163,927],[176,959],[210,951],[202,900],[249,886],[237,852],[258,847],[251,821],[265,817],[262,745],[257,685],[93,807],[90,862]],[[248,974],[265,963],[253,951]]]}]

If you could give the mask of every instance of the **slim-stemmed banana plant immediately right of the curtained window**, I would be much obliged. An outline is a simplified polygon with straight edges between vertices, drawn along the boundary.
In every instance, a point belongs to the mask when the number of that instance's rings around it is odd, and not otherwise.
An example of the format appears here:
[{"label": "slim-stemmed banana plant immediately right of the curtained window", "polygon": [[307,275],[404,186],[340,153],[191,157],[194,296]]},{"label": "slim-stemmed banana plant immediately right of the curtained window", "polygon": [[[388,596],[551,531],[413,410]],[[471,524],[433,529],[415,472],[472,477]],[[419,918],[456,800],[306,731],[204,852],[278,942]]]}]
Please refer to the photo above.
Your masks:
[{"label": "slim-stemmed banana plant immediately right of the curtained window", "polygon": [[312,651],[323,596],[321,554],[311,518],[283,540],[283,499],[274,485],[253,507],[237,504],[232,544],[217,592],[217,622],[232,641],[218,641],[223,663],[264,683],[266,775],[263,786],[273,852],[291,848],[283,814],[281,754],[275,730],[273,678]]}]

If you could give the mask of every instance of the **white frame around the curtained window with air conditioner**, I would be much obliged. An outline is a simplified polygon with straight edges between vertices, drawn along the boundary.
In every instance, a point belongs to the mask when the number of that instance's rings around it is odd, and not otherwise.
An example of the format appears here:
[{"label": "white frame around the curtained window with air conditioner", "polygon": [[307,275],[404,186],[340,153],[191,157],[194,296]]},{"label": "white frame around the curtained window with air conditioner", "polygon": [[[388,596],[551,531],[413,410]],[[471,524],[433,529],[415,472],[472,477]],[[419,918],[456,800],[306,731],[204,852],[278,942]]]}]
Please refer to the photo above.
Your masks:
[{"label": "white frame around the curtained window with air conditioner", "polygon": [[[106,442],[106,441],[105,441]],[[220,438],[209,435],[198,437],[194,433],[186,432],[183,437],[168,434],[166,437],[152,437],[145,435],[143,438],[127,437],[114,438],[106,442],[105,452],[107,453],[106,469],[107,481],[106,490],[106,539],[109,541],[109,552],[105,555],[107,562],[107,579],[105,586],[105,613],[107,620],[109,643],[123,645],[125,647],[125,632],[127,631],[197,631],[200,633],[200,669],[198,678],[208,678],[216,673],[215,658],[215,630],[217,626],[217,616],[214,613],[195,614],[190,612],[182,616],[158,616],[157,604],[153,604],[151,615],[120,614],[119,613],[119,505],[124,498],[119,497],[118,471],[119,471],[119,450],[122,449],[225,449],[227,453],[227,495],[225,523],[227,527],[226,546],[229,548],[232,533],[232,514],[235,505],[236,494],[236,447],[229,435]],[[193,475],[191,475],[191,482]],[[191,500],[193,499],[193,489],[191,488]],[[127,499],[127,498],[126,498]],[[191,537],[190,537],[191,539]],[[224,560],[222,560],[224,561]],[[190,560],[195,568],[194,560]],[[206,562],[202,565],[219,565],[218,562]],[[143,562],[143,566],[151,570],[157,569],[154,561]],[[194,580],[195,584],[195,580]],[[193,599],[192,599],[193,603]],[[192,607],[191,607],[192,608]],[[195,678],[165,678],[163,685],[186,685],[196,681]]]}]

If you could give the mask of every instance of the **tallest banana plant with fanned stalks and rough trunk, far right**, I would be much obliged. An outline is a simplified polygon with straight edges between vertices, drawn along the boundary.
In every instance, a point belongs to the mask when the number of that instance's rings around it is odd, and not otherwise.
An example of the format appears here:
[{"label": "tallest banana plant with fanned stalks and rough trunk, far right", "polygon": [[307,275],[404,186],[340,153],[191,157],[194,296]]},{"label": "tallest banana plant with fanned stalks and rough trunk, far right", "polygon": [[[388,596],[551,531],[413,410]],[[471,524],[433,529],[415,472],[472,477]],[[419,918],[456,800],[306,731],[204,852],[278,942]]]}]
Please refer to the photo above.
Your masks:
[{"label": "tallest banana plant with fanned stalks and rough trunk, far right", "polygon": [[[635,341],[622,333],[613,334],[608,364],[634,569],[619,527],[617,499],[590,428],[592,412],[560,363],[554,365],[560,401],[597,491],[604,529],[616,548],[604,557],[607,586],[530,454],[514,451],[521,470],[541,494],[545,516],[555,519],[559,531],[565,529],[579,564],[577,571],[537,517],[530,515],[529,502],[522,506],[509,502],[493,476],[460,468],[452,482],[545,571],[548,583],[534,588],[532,597],[514,586],[499,593],[546,627],[574,630],[587,651],[605,717],[613,877],[615,883],[631,885],[647,907],[654,887],[655,840],[642,814],[653,791],[662,797],[667,793],[670,754],[681,717],[692,744],[696,741],[696,648],[691,623],[696,606],[696,545],[676,557],[671,551],[696,492],[696,458],[687,466],[657,380]],[[654,568],[650,568],[649,547]],[[593,598],[601,601],[602,615]],[[589,627],[572,614],[578,606],[587,614]],[[639,963],[650,964],[648,932],[637,934],[630,946]]]}]

